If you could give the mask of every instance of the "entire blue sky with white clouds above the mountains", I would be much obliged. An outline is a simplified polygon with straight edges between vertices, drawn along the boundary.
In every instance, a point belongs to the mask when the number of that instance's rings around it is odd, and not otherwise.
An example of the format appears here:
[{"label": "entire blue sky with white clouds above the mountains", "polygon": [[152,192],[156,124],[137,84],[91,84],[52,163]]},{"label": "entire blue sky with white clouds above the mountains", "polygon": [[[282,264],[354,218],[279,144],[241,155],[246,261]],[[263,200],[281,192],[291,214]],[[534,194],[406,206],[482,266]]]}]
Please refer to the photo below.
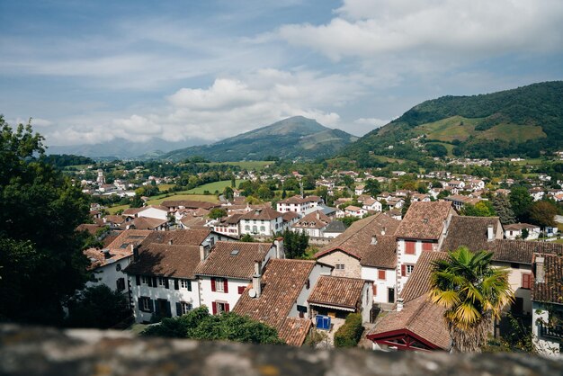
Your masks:
[{"label": "entire blue sky with white clouds above the mountains", "polygon": [[561,0],[0,1],[0,113],[47,145],[212,142],[563,79]]}]

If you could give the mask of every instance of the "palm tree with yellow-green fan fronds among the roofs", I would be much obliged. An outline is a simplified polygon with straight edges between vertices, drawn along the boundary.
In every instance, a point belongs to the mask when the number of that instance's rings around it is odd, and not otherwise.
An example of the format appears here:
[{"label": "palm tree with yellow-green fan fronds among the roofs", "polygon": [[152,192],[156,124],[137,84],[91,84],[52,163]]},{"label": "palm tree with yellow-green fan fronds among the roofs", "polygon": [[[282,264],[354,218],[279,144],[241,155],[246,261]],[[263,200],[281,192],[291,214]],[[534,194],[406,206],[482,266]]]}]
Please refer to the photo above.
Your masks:
[{"label": "palm tree with yellow-green fan fronds among the roofs", "polygon": [[493,318],[514,300],[508,270],[491,266],[493,254],[465,246],[433,262],[430,299],[445,309],[452,351],[479,352],[493,329]]}]

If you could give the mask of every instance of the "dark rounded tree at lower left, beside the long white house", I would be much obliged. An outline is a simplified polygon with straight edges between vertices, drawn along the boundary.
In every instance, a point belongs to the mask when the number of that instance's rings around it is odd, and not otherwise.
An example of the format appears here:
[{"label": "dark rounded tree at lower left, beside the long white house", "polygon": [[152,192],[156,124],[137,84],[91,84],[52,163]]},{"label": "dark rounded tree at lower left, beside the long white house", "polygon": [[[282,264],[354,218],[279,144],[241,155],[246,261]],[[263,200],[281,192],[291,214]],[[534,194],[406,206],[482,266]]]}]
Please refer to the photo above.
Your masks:
[{"label": "dark rounded tree at lower left, beside the long white house", "polygon": [[76,292],[68,300],[69,327],[107,329],[129,318],[131,309],[121,291],[112,291],[105,284]]}]

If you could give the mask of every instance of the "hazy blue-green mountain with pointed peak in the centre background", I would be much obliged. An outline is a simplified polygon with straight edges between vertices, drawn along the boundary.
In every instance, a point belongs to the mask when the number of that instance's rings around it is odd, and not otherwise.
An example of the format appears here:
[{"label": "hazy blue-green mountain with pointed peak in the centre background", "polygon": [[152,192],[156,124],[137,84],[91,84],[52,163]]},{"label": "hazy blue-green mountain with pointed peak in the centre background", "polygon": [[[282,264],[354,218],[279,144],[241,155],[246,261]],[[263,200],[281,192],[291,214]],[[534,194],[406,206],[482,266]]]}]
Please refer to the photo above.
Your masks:
[{"label": "hazy blue-green mountain with pointed peak in the centre background", "polygon": [[163,159],[182,160],[200,156],[218,162],[262,160],[265,157],[330,157],[357,137],[326,128],[302,116],[278,121],[210,145],[182,148],[166,153]]}]

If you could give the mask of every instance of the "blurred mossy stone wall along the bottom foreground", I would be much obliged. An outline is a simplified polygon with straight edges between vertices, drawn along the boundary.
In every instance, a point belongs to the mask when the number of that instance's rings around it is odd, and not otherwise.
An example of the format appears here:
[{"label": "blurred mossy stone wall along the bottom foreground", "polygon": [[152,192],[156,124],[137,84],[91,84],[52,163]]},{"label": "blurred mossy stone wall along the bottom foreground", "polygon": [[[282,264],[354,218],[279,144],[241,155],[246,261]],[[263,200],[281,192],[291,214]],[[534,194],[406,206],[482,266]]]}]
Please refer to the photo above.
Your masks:
[{"label": "blurred mossy stone wall along the bottom foreground", "polygon": [[375,353],[139,338],[125,332],[0,327],[2,375],[560,375],[529,354]]}]

